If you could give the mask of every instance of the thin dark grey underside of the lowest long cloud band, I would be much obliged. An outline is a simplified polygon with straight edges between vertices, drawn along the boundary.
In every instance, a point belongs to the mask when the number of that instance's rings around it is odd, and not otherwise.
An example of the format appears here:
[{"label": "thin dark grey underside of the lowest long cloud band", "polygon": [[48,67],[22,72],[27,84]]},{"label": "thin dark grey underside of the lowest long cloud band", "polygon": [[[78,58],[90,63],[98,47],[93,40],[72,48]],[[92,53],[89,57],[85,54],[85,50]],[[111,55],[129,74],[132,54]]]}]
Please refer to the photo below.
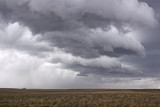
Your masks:
[{"label": "thin dark grey underside of the lowest long cloud band", "polygon": [[75,71],[79,71],[78,76],[88,76],[90,74],[100,75],[104,77],[144,77],[142,72],[137,72],[137,69],[130,68],[103,68],[103,67],[90,67],[83,65],[65,65],[66,68],[73,69]]}]

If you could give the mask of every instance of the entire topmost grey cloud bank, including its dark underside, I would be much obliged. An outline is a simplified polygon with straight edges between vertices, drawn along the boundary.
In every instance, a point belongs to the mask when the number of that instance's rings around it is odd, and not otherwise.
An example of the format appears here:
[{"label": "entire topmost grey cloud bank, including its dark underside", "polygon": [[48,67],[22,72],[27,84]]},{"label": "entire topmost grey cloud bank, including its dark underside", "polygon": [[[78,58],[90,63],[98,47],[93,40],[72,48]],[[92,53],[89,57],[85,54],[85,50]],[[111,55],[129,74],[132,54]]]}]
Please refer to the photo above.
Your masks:
[{"label": "entire topmost grey cloud bank, including its dark underside", "polygon": [[[100,2],[48,0],[45,3],[37,0],[0,0],[0,3],[3,18],[21,22],[35,33],[75,29],[81,25],[92,28],[120,22],[147,26],[154,26],[157,23],[152,8],[137,0],[132,0],[130,8],[127,2],[110,0]],[[115,6],[118,7],[114,8]],[[146,17],[142,17],[145,11],[148,11]]]}]

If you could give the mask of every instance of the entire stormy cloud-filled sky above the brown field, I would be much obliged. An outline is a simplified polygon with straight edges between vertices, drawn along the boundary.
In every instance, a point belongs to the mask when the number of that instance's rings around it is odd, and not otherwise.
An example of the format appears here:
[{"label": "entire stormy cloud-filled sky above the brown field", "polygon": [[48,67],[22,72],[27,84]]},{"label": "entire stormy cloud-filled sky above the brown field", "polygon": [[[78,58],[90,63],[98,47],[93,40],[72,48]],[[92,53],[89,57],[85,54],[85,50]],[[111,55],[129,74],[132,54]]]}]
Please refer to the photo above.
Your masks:
[{"label": "entire stormy cloud-filled sky above the brown field", "polygon": [[159,0],[0,0],[0,88],[160,88]]}]

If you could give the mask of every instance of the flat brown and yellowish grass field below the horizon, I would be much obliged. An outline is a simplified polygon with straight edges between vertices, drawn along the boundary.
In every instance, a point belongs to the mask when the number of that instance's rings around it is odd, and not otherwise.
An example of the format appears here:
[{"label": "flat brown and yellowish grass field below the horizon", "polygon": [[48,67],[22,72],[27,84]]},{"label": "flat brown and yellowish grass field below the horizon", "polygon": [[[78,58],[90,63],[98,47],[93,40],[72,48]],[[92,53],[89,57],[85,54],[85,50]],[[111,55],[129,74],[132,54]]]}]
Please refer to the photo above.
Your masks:
[{"label": "flat brown and yellowish grass field below the horizon", "polygon": [[160,107],[160,90],[0,89],[1,107]]}]

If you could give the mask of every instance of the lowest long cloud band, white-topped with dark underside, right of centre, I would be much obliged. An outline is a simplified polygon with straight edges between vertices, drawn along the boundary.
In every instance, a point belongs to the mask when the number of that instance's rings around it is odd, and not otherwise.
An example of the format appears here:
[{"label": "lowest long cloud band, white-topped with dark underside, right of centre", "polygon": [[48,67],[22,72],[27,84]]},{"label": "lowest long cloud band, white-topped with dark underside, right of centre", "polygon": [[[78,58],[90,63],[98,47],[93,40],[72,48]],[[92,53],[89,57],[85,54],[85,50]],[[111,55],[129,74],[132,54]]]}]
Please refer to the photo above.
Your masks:
[{"label": "lowest long cloud band, white-topped with dark underside, right of centre", "polygon": [[62,51],[56,51],[49,58],[51,63],[61,63],[65,69],[72,69],[79,72],[79,76],[88,76],[89,74],[101,76],[120,76],[138,77],[143,73],[136,67],[122,63],[118,58],[101,56],[99,58],[85,59],[75,57]]}]

